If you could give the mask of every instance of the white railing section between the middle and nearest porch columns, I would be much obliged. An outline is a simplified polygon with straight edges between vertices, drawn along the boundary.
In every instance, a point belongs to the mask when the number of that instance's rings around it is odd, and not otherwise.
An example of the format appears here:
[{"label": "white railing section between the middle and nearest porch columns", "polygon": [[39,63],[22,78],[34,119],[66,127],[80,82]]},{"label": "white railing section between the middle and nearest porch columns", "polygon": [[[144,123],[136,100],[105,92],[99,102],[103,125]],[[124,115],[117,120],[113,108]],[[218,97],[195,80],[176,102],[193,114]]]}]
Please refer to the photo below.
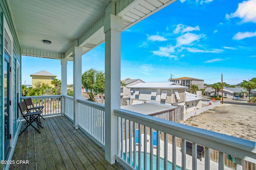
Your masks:
[{"label": "white railing section between the middle and nearest porch columns", "polygon": [[88,134],[88,137],[105,148],[105,106],[88,100],[78,100],[78,127]]}]

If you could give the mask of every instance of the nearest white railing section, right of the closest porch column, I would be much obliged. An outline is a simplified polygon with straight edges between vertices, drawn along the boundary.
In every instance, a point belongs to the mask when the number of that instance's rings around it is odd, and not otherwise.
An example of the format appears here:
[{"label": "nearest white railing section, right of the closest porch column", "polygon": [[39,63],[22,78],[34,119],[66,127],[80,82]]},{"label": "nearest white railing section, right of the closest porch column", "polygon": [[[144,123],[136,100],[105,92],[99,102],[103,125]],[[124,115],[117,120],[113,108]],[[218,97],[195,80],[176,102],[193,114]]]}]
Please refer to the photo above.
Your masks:
[{"label": "nearest white railing section, right of the closest porch column", "polygon": [[[161,152],[164,152],[164,170],[167,169],[168,136],[172,136],[172,169],[176,169],[176,139],[182,139],[182,170],[186,169],[186,141],[192,142],[192,169],[197,169],[197,144],[204,146],[205,170],[210,170],[210,149],[219,151],[218,169],[224,170],[224,153],[236,157],[236,169],[242,170],[242,160],[256,163],[256,143],[244,139],[182,125],[180,123],[142,115],[124,109],[115,109],[118,116],[118,154],[116,160],[126,168],[160,169],[160,134],[164,140]],[[142,125],[144,128],[142,128]],[[149,128],[149,139],[148,139]],[[136,129],[138,129],[138,143],[136,146]],[[142,129],[143,135],[142,135]],[[156,131],[156,145],[153,150],[153,130]],[[161,133],[160,133],[161,132]],[[144,140],[142,140],[142,137]],[[142,148],[141,141],[144,141]],[[148,143],[149,142],[149,143]],[[149,146],[148,146],[149,145]],[[148,150],[149,149],[149,150]],[[143,152],[142,152],[143,150]],[[163,150],[163,151],[162,151]],[[138,154],[136,154],[138,152]],[[132,153],[132,154],[130,154]],[[147,167],[147,153],[150,154],[150,167]],[[156,164],[153,167],[153,153],[156,154]],[[144,154],[144,160],[142,160]],[[136,162],[136,155],[138,156]],[[162,156],[161,156],[162,157]],[[128,161],[129,160],[129,161]]]}]

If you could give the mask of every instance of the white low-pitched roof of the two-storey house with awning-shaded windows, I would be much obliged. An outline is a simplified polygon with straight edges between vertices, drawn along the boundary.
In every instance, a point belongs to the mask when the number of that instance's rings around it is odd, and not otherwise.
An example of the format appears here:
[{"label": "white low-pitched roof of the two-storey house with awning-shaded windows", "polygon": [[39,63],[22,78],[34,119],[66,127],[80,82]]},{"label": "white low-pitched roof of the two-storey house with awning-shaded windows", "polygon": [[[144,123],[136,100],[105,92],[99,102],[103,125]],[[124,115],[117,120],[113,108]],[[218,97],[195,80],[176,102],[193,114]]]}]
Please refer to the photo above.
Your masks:
[{"label": "white low-pitched roof of the two-storey house with awning-shaded windows", "polygon": [[174,82],[153,82],[153,83],[138,83],[128,88],[178,89],[178,88],[187,88],[187,87],[177,85]]}]

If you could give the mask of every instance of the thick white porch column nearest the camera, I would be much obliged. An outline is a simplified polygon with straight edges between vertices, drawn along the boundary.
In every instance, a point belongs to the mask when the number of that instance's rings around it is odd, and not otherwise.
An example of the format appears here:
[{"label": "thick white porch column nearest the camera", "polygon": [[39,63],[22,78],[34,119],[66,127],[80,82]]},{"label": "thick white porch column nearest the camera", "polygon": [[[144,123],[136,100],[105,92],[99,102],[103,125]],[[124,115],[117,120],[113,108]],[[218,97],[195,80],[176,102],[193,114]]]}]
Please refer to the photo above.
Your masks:
[{"label": "thick white porch column nearest the camera", "polygon": [[117,117],[114,109],[120,108],[120,44],[122,18],[115,16],[115,4],[106,7],[105,33],[105,158],[115,163],[117,154]]}]

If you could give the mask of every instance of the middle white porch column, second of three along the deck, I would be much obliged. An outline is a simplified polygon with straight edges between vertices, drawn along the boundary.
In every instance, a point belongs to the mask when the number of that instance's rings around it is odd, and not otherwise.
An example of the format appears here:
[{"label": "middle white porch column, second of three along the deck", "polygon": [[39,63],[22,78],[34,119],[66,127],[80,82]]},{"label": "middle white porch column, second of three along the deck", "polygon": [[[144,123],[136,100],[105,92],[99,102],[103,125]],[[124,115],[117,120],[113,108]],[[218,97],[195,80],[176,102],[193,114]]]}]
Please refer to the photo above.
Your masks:
[{"label": "middle white porch column, second of three along the deck", "polygon": [[79,104],[77,102],[77,99],[80,98],[82,98],[82,47],[78,47],[78,39],[75,39],[73,49],[73,126],[76,129],[78,129],[79,122]]}]

